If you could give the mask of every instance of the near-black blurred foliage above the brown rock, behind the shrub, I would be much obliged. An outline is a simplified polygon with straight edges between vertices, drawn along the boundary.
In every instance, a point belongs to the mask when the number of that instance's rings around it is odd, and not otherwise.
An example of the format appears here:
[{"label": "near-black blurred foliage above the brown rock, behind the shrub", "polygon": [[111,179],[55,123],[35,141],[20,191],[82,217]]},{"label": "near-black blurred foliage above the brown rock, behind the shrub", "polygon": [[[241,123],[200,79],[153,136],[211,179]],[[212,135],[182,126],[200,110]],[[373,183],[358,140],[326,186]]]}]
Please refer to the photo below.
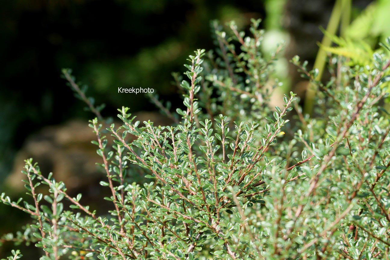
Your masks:
[{"label": "near-black blurred foliage above the brown rock, behind the shrub", "polygon": [[[173,71],[188,53],[210,49],[211,19],[264,17],[260,1],[7,1],[0,30],[0,118],[8,160],[25,136],[43,125],[88,118],[60,78],[70,67],[113,115],[122,105],[155,110],[142,95],[118,87],[151,87],[177,99]],[[3,175],[4,176],[4,175]]]}]

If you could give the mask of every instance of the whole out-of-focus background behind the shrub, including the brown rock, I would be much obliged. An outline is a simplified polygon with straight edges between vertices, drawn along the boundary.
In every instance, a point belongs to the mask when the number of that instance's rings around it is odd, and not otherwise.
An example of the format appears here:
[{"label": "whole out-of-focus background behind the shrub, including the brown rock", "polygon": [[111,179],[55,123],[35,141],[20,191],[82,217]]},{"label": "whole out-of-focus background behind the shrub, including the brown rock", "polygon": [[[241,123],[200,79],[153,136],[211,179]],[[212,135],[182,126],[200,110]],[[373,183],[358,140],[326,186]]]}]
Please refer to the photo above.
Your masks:
[{"label": "whole out-of-focus background behind the shrub, including the brown rock", "polygon": [[[346,2],[351,3],[351,21],[374,5],[385,8],[381,12],[385,15],[370,20],[379,21],[381,31],[372,32],[372,24],[365,24],[365,30],[374,45],[385,33],[390,35],[386,27],[390,1]],[[182,101],[171,73],[184,72],[183,64],[193,50],[214,48],[210,21],[235,20],[245,28],[250,18],[261,18],[267,31],[264,51],[286,42],[284,57],[277,63],[284,89],[303,96],[305,84],[288,61],[299,55],[312,67],[317,42],[323,37],[319,27],[328,25],[335,0],[13,0],[1,4],[0,191],[13,198],[23,196],[23,159],[34,157],[43,172],[54,172],[69,193],[83,192],[93,205],[104,176],[94,166],[98,160],[90,144],[94,134],[87,127],[92,115],[83,111],[84,104],[60,78],[62,68],[73,69],[77,81],[89,85],[88,95],[97,104],[106,104],[103,116],[115,117],[117,108],[128,106],[141,121],[164,124],[168,121],[144,96],[119,94],[117,88],[154,88],[175,107]],[[0,205],[1,234],[15,232],[28,220],[18,210]],[[0,258],[10,248],[7,243],[0,248]],[[25,259],[38,259],[36,249],[28,248],[23,249]]]}]

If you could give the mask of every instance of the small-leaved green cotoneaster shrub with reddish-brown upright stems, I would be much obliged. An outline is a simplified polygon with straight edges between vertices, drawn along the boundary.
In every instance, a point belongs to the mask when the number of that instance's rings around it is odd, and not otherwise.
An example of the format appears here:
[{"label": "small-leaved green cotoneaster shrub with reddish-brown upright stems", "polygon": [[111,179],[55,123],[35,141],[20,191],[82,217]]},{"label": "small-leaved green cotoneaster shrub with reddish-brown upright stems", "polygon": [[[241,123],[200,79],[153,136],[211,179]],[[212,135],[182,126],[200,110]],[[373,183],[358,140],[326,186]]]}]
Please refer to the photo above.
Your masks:
[{"label": "small-leaved green cotoneaster shrub with reddish-brown upright stems", "polygon": [[[234,23],[228,32],[214,25],[216,53],[197,50],[185,79],[176,77],[184,110],[152,97],[173,126],[140,127],[125,107],[120,126],[106,125],[101,107],[64,70],[96,114],[92,142],[112,210],[98,216],[28,159],[31,200],[2,194],[1,201],[34,220],[2,242],[34,243],[42,260],[389,258],[389,114],[380,105],[390,61],[377,55],[373,67],[348,67],[330,58],[332,78],[314,82],[321,91],[309,118],[293,93],[269,107],[281,48],[264,58],[259,21],[250,36]],[[128,176],[140,172],[145,183],[132,183]],[[49,195],[37,193],[39,185]],[[18,258],[19,251],[9,257]]]}]

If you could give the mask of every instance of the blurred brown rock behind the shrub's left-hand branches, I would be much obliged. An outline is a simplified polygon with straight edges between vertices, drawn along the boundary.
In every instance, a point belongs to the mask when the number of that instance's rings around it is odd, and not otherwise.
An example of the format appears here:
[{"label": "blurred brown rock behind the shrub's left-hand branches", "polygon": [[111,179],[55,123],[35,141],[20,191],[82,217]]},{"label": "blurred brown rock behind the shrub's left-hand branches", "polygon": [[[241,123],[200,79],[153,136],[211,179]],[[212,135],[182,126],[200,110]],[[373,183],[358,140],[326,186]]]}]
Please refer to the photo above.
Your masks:
[{"label": "blurred brown rock behind the shrub's left-hand branches", "polygon": [[[154,122],[154,126],[171,124],[158,112],[139,112],[135,115],[141,125],[147,120]],[[116,125],[119,124],[117,122]],[[106,136],[111,138],[110,134]],[[33,158],[44,175],[53,172],[53,177],[63,181],[70,193],[82,191],[84,195],[94,197],[100,193],[99,181],[105,178],[105,174],[96,166],[97,162],[101,163],[101,157],[97,155],[92,140],[96,140],[96,135],[87,121],[72,120],[44,127],[26,139],[14,159],[12,173],[5,180],[5,185],[12,193],[23,191],[24,183],[21,180],[25,175],[21,170],[25,165],[24,160]]]}]

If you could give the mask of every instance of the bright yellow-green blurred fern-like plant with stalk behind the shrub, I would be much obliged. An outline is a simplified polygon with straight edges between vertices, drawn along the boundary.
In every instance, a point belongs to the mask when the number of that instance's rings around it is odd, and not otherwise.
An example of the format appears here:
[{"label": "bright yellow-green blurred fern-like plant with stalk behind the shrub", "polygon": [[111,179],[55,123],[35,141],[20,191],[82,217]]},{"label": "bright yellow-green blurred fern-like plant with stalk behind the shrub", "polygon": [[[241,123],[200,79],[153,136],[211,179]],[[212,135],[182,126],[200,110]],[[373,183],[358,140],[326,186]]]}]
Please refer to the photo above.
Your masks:
[{"label": "bright yellow-green blurred fern-like plant with stalk behind the shrub", "polygon": [[[324,32],[324,38],[317,53],[314,68],[318,70],[316,80],[320,81],[326,65],[326,53],[332,53],[350,59],[350,65],[361,65],[372,67],[377,62],[378,55],[383,49],[375,50],[376,44],[386,40],[390,35],[387,21],[390,2],[388,0],[377,0],[367,6],[358,17],[350,24],[351,0],[337,0],[329,19],[328,27]],[[336,36],[340,28],[340,37]],[[335,43],[337,46],[332,46]],[[383,46],[382,44],[382,47]],[[388,57],[388,55],[386,55]],[[388,87],[385,86],[385,87]],[[316,96],[316,85],[311,84],[305,97],[305,113],[312,113],[314,97]]]}]

